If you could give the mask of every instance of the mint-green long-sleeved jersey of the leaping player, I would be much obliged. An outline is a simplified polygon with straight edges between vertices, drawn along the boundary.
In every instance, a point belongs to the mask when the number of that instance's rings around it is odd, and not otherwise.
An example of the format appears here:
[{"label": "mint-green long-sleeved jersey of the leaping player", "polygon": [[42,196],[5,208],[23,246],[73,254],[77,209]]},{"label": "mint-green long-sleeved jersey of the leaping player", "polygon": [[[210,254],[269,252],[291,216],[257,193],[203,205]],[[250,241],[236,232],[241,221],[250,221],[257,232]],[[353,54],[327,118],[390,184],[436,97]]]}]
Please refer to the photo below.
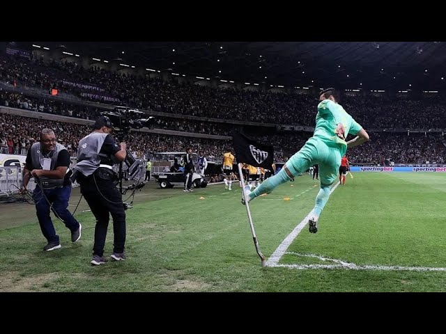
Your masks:
[{"label": "mint-green long-sleeved jersey of the leaping player", "polygon": [[323,100],[318,104],[318,113],[316,115],[316,127],[313,136],[321,138],[321,140],[330,146],[337,146],[341,150],[341,156],[347,150],[347,143],[339,138],[336,133],[336,127],[342,123],[345,128],[345,136],[347,134],[357,134],[362,129],[353,117],[342,108],[340,104],[334,103],[332,100]]}]

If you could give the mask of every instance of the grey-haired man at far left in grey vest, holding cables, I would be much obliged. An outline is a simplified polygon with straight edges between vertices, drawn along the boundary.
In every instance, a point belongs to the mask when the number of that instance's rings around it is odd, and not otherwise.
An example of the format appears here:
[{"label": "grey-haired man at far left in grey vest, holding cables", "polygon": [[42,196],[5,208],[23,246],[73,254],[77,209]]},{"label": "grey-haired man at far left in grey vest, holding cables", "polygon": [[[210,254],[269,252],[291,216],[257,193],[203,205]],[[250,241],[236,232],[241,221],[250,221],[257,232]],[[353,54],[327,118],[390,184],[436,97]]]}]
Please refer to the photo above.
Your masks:
[{"label": "grey-haired man at far left in grey vest, holding cables", "polygon": [[68,150],[56,142],[56,135],[52,129],[43,129],[40,132],[40,143],[34,143],[26,155],[20,193],[26,193],[29,179],[35,177],[36,189],[33,191],[33,200],[36,202],[40,230],[48,241],[43,250],[61,248],[59,235],[56,234],[49,216],[49,209],[52,209],[56,217],[70,229],[72,242],[81,238],[82,225],[67,210],[71,182],[66,172],[70,164]]}]

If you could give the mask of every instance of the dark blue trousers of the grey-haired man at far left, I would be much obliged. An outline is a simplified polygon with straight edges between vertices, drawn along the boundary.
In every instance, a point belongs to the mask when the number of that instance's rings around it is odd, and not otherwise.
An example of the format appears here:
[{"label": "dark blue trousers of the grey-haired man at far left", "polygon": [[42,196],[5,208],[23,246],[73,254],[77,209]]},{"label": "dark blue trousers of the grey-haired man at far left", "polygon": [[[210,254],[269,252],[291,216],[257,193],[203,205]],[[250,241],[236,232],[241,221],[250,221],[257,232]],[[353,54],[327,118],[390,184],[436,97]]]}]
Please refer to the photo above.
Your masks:
[{"label": "dark blue trousers of the grey-haired man at far left", "polygon": [[59,216],[71,232],[75,232],[79,228],[79,222],[67,210],[70,194],[71,185],[43,191],[40,189],[40,186],[36,186],[36,189],[33,191],[33,200],[36,202],[36,214],[40,230],[42,230],[43,236],[48,242],[59,242],[59,235],[56,234],[51,216],[49,216],[49,203],[52,203],[52,211],[56,217]]}]

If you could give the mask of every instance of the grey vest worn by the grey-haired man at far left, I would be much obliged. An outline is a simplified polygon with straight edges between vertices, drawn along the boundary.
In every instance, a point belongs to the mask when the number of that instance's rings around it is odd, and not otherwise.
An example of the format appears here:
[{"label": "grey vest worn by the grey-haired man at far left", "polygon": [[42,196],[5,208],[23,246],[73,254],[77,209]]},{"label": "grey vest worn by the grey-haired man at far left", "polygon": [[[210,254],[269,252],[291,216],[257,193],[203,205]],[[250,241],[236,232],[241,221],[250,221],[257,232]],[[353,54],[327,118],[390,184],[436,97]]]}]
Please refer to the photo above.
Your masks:
[{"label": "grey vest worn by the grey-haired man at far left", "polygon": [[[56,143],[56,148],[50,151],[48,154],[43,154],[40,143],[33,143],[31,146],[31,164],[33,169],[43,169],[43,159],[51,159],[51,166],[49,170],[54,170],[57,162],[57,157],[61,150],[66,150],[65,146]],[[40,186],[43,189],[61,188],[63,186],[64,179],[50,179],[49,177],[38,177]]]}]

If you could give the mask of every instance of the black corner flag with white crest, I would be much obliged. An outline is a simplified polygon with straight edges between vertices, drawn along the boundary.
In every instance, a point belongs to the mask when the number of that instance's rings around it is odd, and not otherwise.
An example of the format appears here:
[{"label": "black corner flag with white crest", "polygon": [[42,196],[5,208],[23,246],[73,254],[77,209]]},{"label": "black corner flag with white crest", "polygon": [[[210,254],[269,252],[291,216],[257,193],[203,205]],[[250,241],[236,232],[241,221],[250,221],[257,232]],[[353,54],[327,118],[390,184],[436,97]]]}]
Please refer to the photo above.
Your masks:
[{"label": "black corner flag with white crest", "polygon": [[274,162],[274,148],[272,145],[253,141],[238,132],[233,134],[232,141],[239,164],[245,163],[254,167],[263,167],[272,170],[272,163]]}]

